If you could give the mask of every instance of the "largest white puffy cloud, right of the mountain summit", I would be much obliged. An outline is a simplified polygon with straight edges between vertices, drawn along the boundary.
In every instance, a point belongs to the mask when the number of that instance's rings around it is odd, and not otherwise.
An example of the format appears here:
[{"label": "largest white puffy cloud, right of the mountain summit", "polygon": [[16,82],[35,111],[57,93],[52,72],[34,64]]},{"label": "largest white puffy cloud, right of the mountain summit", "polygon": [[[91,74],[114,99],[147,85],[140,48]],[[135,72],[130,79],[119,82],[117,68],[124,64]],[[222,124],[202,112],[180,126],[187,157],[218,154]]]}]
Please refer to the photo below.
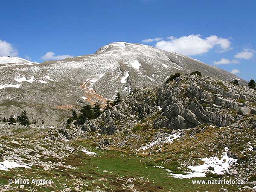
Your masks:
[{"label": "largest white puffy cloud, right of the mountain summit", "polygon": [[231,48],[231,42],[228,39],[220,38],[216,35],[206,38],[201,38],[201,35],[189,35],[180,38],[170,36],[168,39],[170,41],[158,41],[155,47],[184,55],[203,54],[209,52],[215,46],[219,48],[219,52],[224,52]]}]

